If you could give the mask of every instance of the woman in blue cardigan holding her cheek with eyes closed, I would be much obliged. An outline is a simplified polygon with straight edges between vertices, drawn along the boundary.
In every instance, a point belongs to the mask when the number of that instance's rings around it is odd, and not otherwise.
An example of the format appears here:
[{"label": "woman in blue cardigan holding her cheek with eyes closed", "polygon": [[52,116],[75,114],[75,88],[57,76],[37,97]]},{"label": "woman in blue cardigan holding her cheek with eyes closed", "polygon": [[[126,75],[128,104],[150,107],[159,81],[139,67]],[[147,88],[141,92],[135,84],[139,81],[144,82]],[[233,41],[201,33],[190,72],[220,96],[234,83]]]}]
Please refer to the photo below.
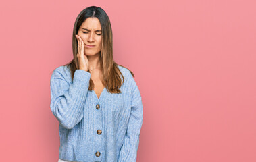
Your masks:
[{"label": "woman in blue cardigan holding her cheek with eyes closed", "polygon": [[109,17],[82,10],[74,59],[51,75],[51,111],[59,121],[59,161],[136,161],[143,104],[134,74],[113,61]]}]

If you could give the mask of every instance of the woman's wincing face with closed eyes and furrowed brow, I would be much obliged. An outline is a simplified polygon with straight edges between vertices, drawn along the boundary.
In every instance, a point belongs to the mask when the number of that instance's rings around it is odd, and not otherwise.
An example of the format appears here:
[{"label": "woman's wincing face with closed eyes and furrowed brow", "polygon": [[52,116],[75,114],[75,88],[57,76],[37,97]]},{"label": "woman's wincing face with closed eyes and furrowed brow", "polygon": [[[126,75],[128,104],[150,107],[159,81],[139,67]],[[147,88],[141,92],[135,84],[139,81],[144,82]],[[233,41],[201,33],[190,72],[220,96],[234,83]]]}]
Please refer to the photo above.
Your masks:
[{"label": "woman's wincing face with closed eyes and furrowed brow", "polygon": [[78,35],[84,41],[85,55],[95,55],[101,51],[101,23],[98,18],[86,18],[78,30]]}]

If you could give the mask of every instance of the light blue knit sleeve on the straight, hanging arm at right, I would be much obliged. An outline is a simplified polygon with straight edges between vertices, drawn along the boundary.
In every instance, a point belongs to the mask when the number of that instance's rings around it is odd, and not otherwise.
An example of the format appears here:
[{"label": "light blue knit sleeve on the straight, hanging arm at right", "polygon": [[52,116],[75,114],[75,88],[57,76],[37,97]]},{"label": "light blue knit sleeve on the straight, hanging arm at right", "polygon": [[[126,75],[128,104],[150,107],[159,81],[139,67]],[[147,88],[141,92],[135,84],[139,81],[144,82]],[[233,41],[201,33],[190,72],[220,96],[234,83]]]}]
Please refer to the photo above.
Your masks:
[{"label": "light blue knit sleeve on the straight, hanging arm at right", "polygon": [[[132,77],[132,76],[131,76]],[[143,124],[143,103],[140,96],[138,86],[132,81],[132,105],[130,111],[130,118],[128,121],[128,128],[124,136],[124,143],[120,150],[118,162],[136,162],[140,128]]]}]

